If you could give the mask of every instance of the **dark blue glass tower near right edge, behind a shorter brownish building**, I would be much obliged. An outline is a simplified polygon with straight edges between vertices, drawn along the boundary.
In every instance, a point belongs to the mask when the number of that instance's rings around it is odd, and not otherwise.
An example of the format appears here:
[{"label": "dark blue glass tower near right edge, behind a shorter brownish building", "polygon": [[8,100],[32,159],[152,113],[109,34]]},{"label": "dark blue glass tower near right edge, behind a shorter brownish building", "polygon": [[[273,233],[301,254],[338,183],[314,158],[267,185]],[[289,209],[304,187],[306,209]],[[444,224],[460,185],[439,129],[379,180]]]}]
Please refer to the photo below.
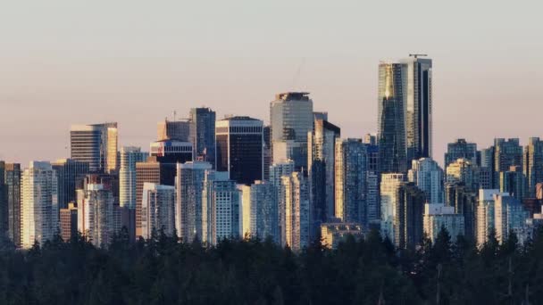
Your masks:
[{"label": "dark blue glass tower near right edge, behind a shorter brownish building", "polygon": [[494,139],[494,186],[499,188],[500,172],[509,170],[512,166],[522,169],[522,146],[518,138]]}]

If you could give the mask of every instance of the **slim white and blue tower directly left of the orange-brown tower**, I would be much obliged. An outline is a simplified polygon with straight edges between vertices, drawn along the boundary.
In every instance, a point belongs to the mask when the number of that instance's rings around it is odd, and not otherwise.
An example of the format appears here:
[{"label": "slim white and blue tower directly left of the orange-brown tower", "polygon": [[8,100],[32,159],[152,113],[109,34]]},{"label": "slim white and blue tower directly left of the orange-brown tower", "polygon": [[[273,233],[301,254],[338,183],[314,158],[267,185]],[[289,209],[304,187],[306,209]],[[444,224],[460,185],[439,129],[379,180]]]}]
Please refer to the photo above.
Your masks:
[{"label": "slim white and blue tower directly left of the orange-brown tower", "polygon": [[119,170],[119,205],[136,209],[136,163],[145,162],[149,154],[139,147],[121,148],[121,169]]}]

